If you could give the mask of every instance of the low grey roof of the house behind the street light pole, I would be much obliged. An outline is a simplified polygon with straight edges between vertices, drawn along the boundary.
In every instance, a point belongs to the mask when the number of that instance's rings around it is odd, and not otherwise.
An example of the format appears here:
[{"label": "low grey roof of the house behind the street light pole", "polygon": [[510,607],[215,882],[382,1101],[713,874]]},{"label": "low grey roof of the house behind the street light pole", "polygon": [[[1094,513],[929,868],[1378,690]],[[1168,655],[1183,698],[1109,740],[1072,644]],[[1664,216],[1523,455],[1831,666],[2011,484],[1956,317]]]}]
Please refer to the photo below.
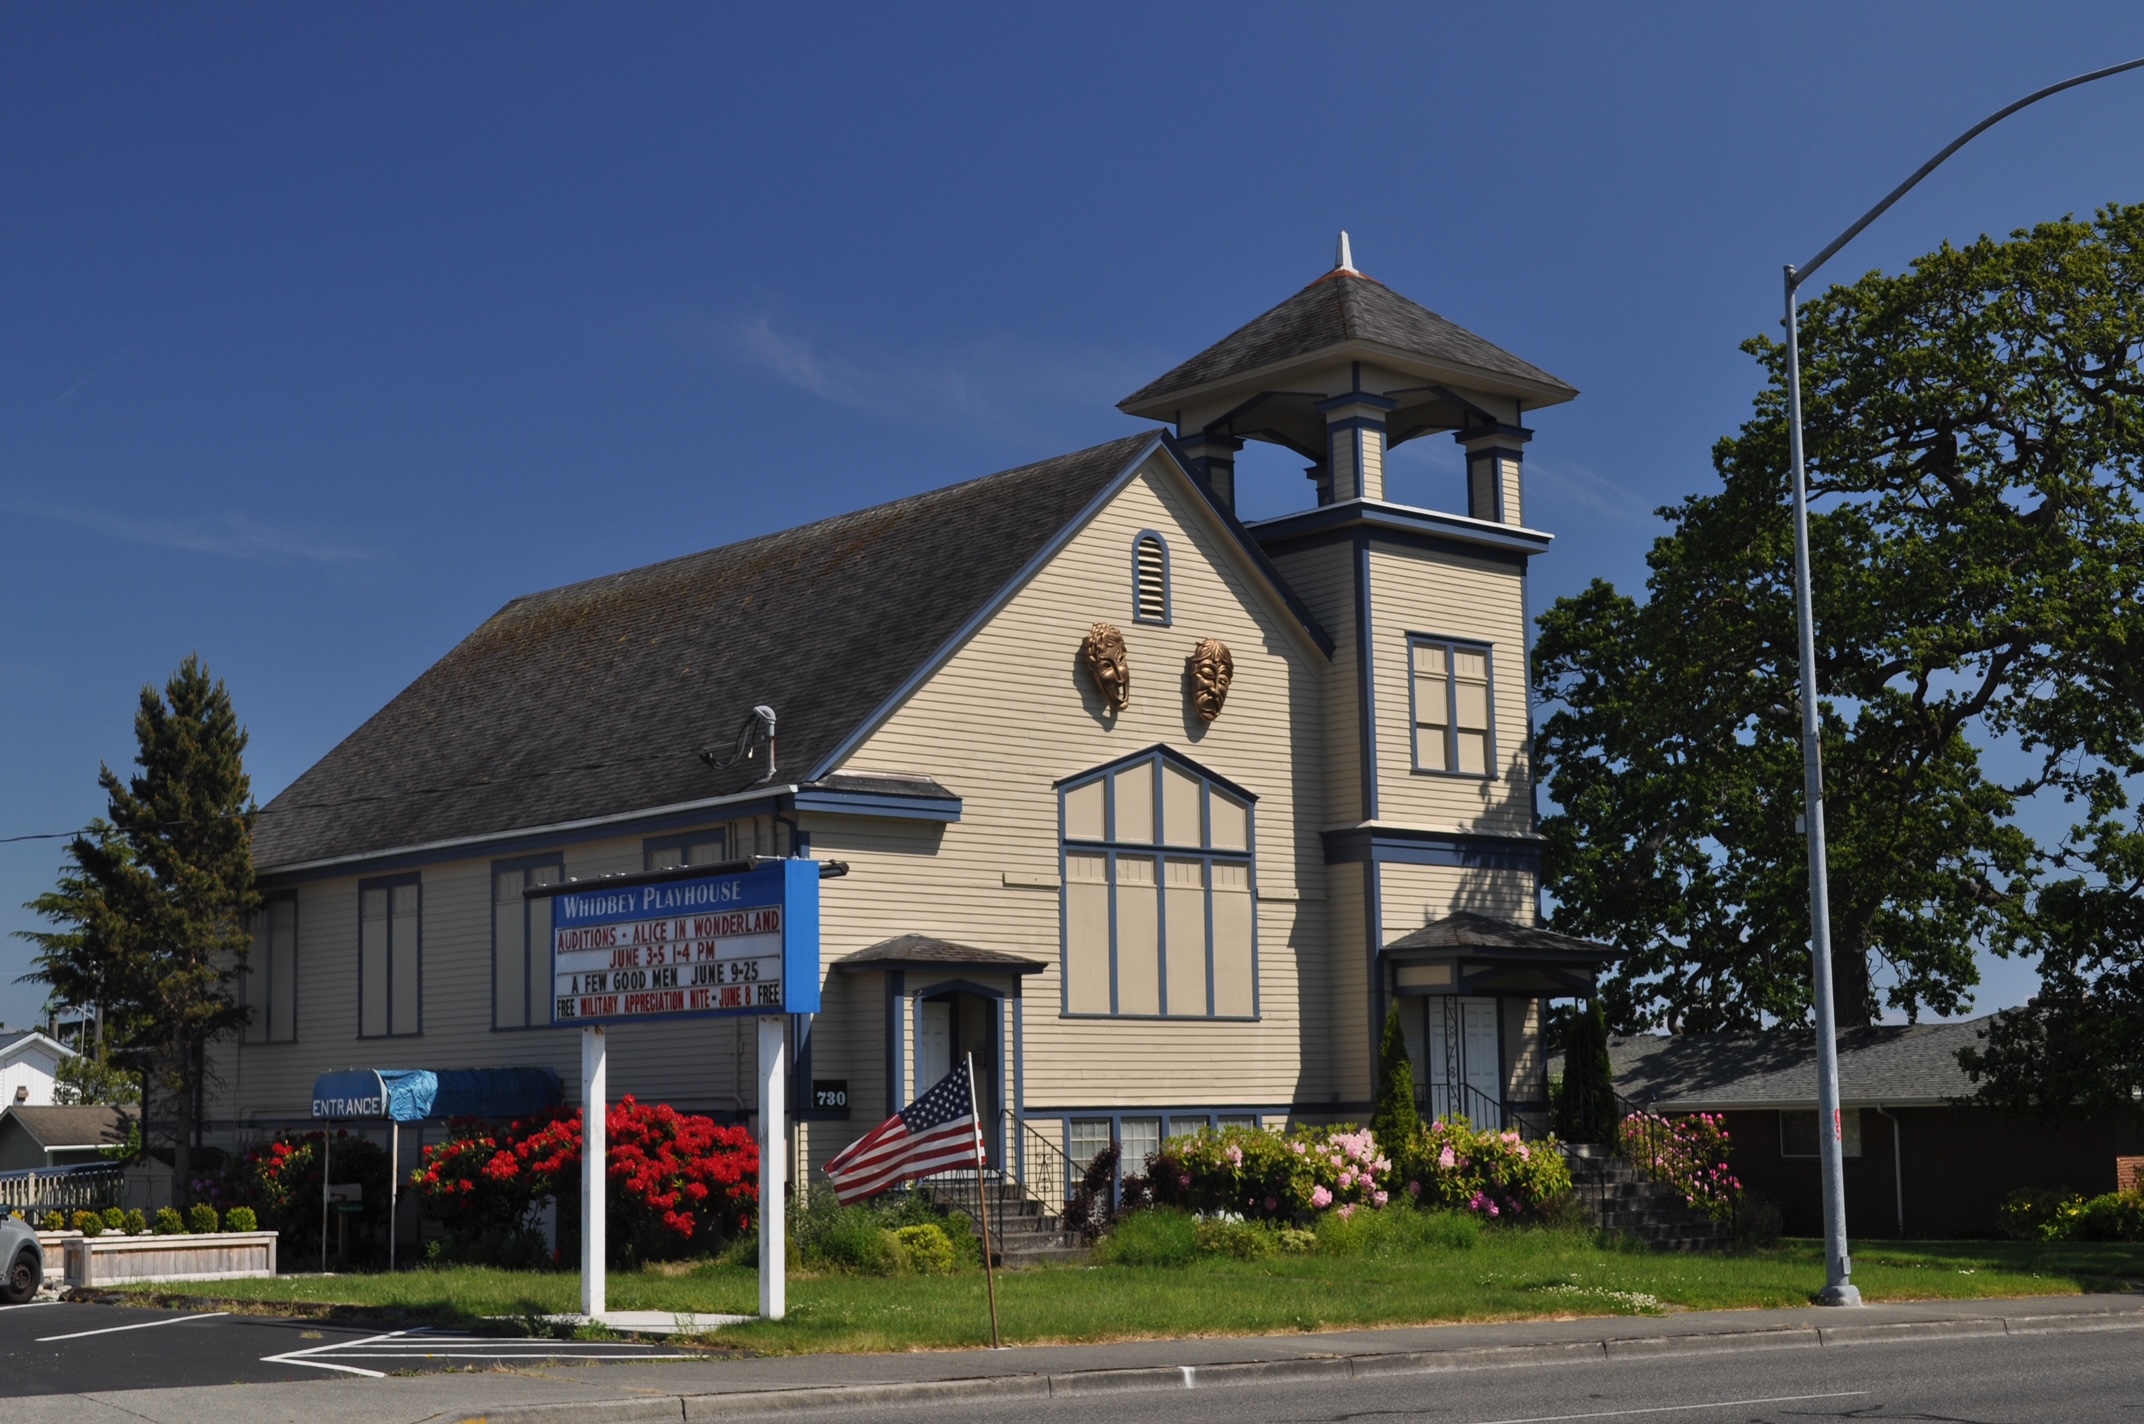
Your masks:
[{"label": "low grey roof of the house behind the street light pole", "polygon": [[[1942,1104],[1975,1092],[1957,1051],[1987,1019],[1878,1023],[1840,1032],[1840,1102]],[[1816,1107],[1810,1029],[1610,1038],[1614,1089],[1666,1109]]]}]

